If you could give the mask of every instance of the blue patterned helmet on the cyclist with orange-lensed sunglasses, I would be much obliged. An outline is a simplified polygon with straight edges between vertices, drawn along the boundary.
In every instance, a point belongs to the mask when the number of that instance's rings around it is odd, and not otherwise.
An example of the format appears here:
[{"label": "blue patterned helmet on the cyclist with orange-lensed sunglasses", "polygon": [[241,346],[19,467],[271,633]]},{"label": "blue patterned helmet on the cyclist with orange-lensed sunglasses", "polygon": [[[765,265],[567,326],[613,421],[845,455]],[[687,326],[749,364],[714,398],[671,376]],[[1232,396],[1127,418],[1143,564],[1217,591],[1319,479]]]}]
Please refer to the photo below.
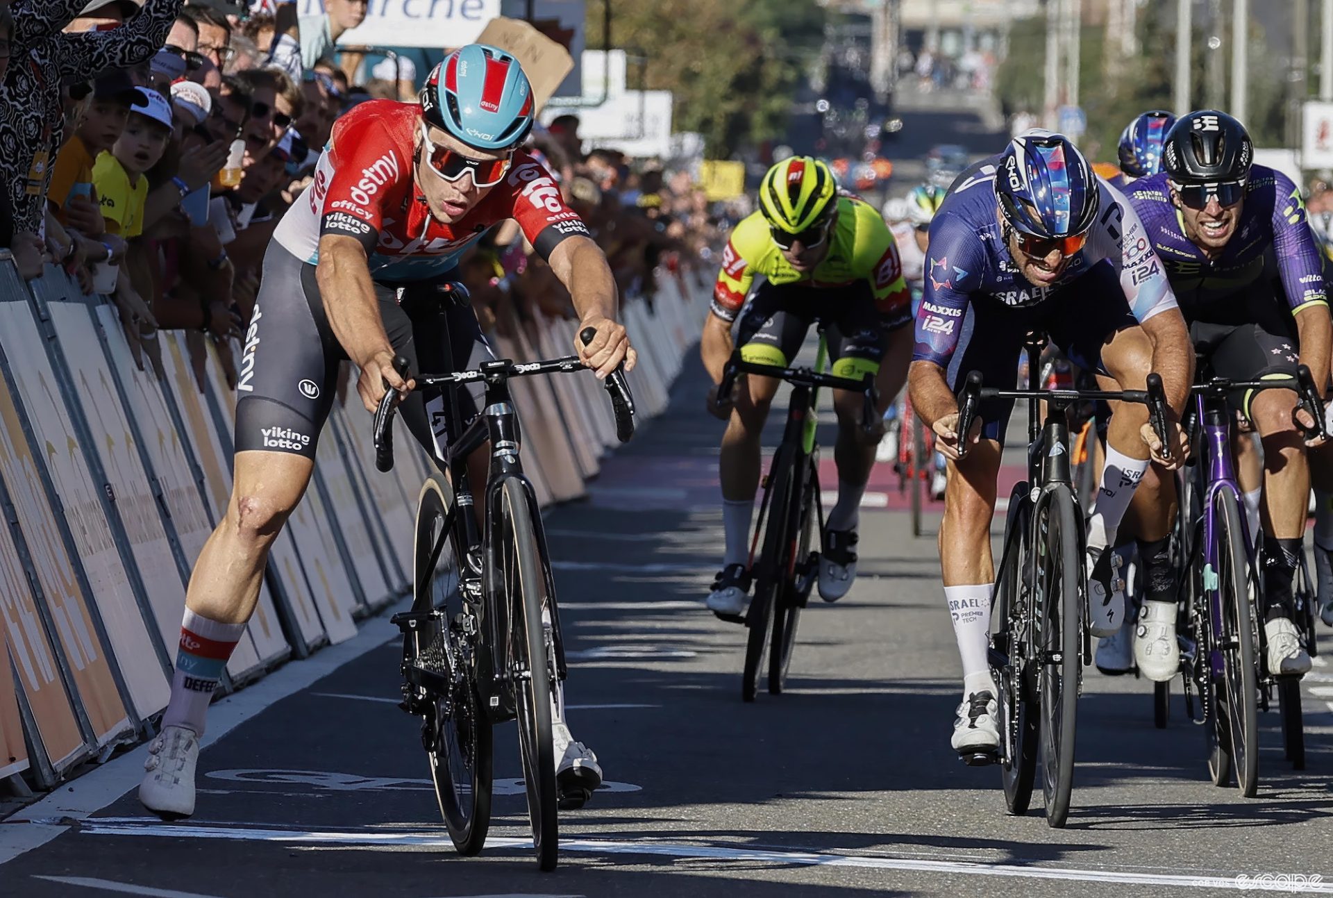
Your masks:
[{"label": "blue patterned helmet on the cyclist with orange-lensed sunglasses", "polygon": [[1033,129],[1000,156],[996,197],[1020,234],[1053,240],[1085,234],[1097,217],[1097,175],[1061,133]]}]

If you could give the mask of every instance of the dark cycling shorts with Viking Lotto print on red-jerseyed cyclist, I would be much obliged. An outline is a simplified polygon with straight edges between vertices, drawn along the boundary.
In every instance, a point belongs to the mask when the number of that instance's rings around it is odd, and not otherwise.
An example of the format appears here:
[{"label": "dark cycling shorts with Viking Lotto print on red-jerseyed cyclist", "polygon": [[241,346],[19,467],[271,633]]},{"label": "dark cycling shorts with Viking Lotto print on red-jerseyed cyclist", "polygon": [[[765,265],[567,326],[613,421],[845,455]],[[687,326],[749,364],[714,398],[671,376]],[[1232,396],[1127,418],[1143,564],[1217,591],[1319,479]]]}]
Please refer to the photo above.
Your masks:
[{"label": "dark cycling shorts with Viking Lotto print on red-jerseyed cyclist", "polygon": [[[463,371],[493,358],[472,310],[437,292],[451,274],[413,284],[375,284],[384,330],[393,350],[411,363],[412,374]],[[315,266],[271,244],[239,368],[236,451],[293,452],[313,459],[344,360],[347,352],[324,315]],[[484,387],[469,390],[456,391],[464,426],[476,418]],[[445,440],[459,436],[447,427],[437,387],[415,390],[399,411],[432,456],[440,455]],[[365,424],[369,427],[369,418]]]}]

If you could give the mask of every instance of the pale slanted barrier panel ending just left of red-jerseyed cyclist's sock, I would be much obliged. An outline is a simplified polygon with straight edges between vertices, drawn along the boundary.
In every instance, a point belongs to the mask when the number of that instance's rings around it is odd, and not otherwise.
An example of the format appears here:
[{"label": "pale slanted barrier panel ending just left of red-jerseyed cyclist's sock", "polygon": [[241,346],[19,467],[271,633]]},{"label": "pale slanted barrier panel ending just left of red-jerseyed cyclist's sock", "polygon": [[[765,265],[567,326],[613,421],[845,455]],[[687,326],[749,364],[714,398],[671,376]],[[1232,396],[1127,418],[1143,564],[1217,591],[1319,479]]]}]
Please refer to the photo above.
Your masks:
[{"label": "pale slanted barrier panel ending just left of red-jerseyed cyclist's sock", "polygon": [[[17,394],[28,410],[28,420],[43,459],[60,496],[61,512],[69,522],[69,534],[77,548],[92,600],[111,639],[121,677],[140,718],[167,707],[171,687],[159,660],[157,647],[148,627],[156,627],[140,612],[120,559],[120,551],[103,512],[97,487],[84,462],[80,446],[47,358],[45,339],[37,331],[27,302],[0,302],[0,334],[5,335],[4,351],[17,382]],[[101,351],[97,351],[99,356]]]}]

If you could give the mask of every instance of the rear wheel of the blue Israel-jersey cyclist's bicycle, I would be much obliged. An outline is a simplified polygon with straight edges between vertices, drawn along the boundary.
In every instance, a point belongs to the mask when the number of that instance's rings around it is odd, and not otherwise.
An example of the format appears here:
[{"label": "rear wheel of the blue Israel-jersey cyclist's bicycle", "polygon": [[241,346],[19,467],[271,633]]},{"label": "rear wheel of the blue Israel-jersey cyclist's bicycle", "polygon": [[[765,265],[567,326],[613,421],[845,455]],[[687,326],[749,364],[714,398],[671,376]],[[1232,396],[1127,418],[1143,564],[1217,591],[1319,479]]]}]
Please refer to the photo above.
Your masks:
[{"label": "rear wheel of the blue Israel-jersey cyclist's bicycle", "polygon": [[994,626],[1001,626],[1001,644],[1008,659],[1006,667],[992,663],[990,678],[1000,695],[1000,738],[1002,741],[1000,779],[1004,785],[1005,807],[1010,814],[1022,815],[1032,805],[1032,789],[1037,779],[1037,734],[1040,715],[1033,689],[1032,664],[1024,656],[1028,651],[1026,603],[1021,600],[1020,584],[1025,578],[1020,571],[1028,563],[1028,530],[1032,504],[1026,484],[1014,487],[1009,498],[1005,519],[1004,550],[996,575],[994,602],[990,606],[992,640]]}]

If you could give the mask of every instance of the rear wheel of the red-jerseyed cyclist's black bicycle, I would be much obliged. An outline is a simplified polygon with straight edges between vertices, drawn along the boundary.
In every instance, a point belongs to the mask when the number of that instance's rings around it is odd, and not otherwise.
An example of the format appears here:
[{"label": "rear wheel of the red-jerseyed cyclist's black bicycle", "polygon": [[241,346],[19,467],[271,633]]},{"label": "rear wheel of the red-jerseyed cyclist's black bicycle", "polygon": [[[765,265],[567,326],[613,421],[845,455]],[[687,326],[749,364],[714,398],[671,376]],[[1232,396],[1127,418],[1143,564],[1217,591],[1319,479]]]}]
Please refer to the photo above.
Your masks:
[{"label": "rear wheel of the red-jerseyed cyclist's black bicycle", "polygon": [[[428,739],[427,758],[440,815],[459,854],[473,855],[481,851],[491,829],[493,733],[481,706],[476,666],[451,664],[451,659],[464,658],[463,640],[468,639],[459,628],[461,624],[456,626],[463,610],[459,588],[463,554],[456,531],[445,536],[447,544],[431,564],[439,527],[452,506],[449,483],[439,474],[428,476],[417,496],[412,586],[415,607],[439,608],[444,618],[427,632],[419,628],[415,635],[404,636],[404,662],[421,663],[423,655],[431,654],[436,666],[448,668],[453,689],[448,697],[431,697],[431,713],[423,721],[423,731]],[[425,646],[423,636],[427,636]],[[444,639],[455,640],[449,651],[437,642]],[[409,647],[408,643],[415,644]]]}]

